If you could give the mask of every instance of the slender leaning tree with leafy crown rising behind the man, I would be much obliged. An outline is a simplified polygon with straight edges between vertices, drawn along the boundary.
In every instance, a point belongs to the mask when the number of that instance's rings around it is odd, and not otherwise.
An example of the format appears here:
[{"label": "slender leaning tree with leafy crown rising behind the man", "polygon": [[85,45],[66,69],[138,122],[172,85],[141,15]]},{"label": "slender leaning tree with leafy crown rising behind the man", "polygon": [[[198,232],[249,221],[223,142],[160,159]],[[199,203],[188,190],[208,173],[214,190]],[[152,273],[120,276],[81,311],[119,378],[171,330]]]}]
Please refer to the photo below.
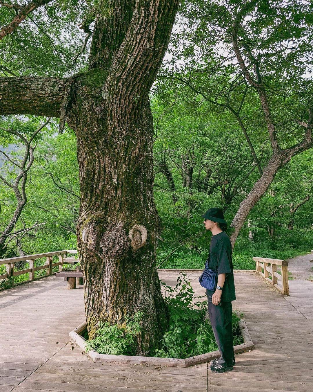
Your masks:
[{"label": "slender leaning tree with leafy crown rising behind the man", "polygon": [[[245,135],[259,179],[232,220],[233,246],[277,171],[313,147],[313,81],[305,76],[312,67],[312,7],[304,1],[186,2],[181,23],[189,31],[173,35],[172,59],[160,73],[172,88],[183,84],[212,110],[229,111]],[[186,67],[177,67],[181,57]],[[260,139],[272,150],[263,166]]]}]

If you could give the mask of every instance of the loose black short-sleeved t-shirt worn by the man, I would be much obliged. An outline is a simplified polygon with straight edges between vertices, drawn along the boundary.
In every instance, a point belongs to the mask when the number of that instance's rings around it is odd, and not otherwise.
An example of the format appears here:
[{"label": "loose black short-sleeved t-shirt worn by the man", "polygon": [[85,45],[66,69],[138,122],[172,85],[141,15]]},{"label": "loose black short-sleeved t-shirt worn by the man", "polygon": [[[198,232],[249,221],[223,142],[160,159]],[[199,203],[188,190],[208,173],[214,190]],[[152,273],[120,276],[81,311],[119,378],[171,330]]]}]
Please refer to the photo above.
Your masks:
[{"label": "loose black short-sleeved t-shirt worn by the man", "polygon": [[[212,270],[217,268],[219,274],[226,274],[222,290],[222,302],[236,301],[232,244],[225,231],[221,231],[211,238],[209,268]],[[207,290],[208,293],[212,295],[214,291]]]}]

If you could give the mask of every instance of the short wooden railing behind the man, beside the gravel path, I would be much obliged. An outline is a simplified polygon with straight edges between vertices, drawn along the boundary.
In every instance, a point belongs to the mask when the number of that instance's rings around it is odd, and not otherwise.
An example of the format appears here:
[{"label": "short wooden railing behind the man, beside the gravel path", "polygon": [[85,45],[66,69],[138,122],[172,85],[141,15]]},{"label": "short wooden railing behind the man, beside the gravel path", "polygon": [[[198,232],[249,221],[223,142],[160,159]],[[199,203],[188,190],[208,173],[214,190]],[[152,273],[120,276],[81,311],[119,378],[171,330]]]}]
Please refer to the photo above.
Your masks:
[{"label": "short wooden railing behind the man, beside the gravel path", "polygon": [[[288,261],[264,257],[253,257],[252,260],[255,261],[255,269],[258,274],[263,276],[282,294],[289,295]],[[277,272],[277,267],[281,270],[281,274]],[[278,283],[281,283],[281,285]]]}]

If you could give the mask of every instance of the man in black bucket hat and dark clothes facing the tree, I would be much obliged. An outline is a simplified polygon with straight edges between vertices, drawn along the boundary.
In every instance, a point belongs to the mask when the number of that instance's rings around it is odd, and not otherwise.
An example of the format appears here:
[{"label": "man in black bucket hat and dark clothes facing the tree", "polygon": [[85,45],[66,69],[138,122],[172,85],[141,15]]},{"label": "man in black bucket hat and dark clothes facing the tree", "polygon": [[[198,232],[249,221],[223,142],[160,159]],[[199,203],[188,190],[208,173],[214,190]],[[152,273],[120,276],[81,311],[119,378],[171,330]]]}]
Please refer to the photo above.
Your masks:
[{"label": "man in black bucket hat and dark clothes facing the tree", "polygon": [[210,368],[214,373],[222,373],[233,370],[235,365],[232,336],[232,301],[236,300],[236,294],[232,266],[232,245],[225,232],[227,223],[221,209],[210,208],[202,215],[202,218],[204,218],[205,229],[212,232],[209,269],[218,269],[216,290],[206,290],[210,322],[221,353],[220,358],[215,359]]}]

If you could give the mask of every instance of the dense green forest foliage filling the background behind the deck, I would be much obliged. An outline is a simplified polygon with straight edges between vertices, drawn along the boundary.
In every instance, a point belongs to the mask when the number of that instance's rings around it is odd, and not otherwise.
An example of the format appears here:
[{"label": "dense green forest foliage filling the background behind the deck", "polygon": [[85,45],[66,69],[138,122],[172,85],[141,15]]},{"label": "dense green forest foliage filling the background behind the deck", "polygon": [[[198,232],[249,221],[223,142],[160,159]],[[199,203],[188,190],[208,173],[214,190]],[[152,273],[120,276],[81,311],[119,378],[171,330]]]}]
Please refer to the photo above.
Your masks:
[{"label": "dense green forest foliage filling the background behind the deck", "polygon": [[[302,139],[312,104],[311,6],[259,3],[264,9],[245,22],[247,52],[257,58],[279,142],[287,148]],[[154,196],[163,227],[157,247],[160,268],[203,268],[210,233],[201,215],[220,207],[230,225],[272,153],[257,91],[228,50],[228,16],[214,19],[207,4],[180,6],[151,90]],[[218,12],[218,2],[210,6]],[[50,2],[33,11],[0,41],[0,75],[63,77],[88,69],[88,7],[79,1]],[[12,9],[2,6],[0,18],[2,26],[8,24]],[[59,133],[54,118],[1,116],[0,144],[0,257],[76,249],[74,132],[65,125]],[[253,256],[288,259],[309,252],[312,194],[313,152],[308,149],[278,170],[250,211],[236,239],[234,268],[253,269]]]}]

